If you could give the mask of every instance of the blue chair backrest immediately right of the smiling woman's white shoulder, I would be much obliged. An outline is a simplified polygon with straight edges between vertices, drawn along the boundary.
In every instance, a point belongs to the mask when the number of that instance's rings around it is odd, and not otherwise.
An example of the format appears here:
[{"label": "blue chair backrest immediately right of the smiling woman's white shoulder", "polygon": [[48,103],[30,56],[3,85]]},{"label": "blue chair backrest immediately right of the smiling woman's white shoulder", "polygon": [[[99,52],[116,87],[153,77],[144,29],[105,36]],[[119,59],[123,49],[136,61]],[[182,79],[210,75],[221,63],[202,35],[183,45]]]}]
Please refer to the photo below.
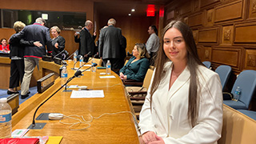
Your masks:
[{"label": "blue chair backrest immediately right of the smiling woman's white shoulder", "polygon": [[230,78],[231,74],[231,67],[226,65],[218,66],[215,72],[218,74],[219,78],[222,82],[222,90],[224,90],[224,87],[226,86],[226,83],[228,82],[228,79]]}]

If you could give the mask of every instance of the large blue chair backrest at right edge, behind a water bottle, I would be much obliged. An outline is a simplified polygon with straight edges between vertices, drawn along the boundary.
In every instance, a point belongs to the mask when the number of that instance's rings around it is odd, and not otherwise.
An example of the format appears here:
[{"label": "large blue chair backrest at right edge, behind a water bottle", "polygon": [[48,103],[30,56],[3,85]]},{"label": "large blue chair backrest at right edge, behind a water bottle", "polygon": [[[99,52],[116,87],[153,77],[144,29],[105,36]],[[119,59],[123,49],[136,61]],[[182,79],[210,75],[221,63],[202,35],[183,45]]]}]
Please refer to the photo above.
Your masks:
[{"label": "large blue chair backrest at right edge, behind a water bottle", "polygon": [[243,102],[248,109],[250,100],[253,97],[256,89],[256,70],[242,71],[242,73],[238,75],[238,78],[234,82],[234,86],[231,90],[232,94],[234,94],[234,91],[238,86],[241,88],[239,101]]}]

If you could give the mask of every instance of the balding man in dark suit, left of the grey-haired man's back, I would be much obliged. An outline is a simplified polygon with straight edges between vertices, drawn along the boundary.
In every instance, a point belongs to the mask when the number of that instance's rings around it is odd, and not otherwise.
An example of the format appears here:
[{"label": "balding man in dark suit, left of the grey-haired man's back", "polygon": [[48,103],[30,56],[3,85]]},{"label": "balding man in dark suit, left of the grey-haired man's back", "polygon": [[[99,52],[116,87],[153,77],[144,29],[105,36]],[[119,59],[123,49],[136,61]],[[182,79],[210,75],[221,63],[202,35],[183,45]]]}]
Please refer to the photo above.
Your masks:
[{"label": "balding man in dark suit, left of the grey-haired man's back", "polygon": [[[87,20],[85,23],[84,29],[80,31],[80,51],[79,54],[81,54],[84,57],[84,61],[87,62],[89,57],[94,54],[94,38],[90,34],[90,30],[94,27],[93,22],[90,20]],[[89,55],[87,55],[90,52]]]}]

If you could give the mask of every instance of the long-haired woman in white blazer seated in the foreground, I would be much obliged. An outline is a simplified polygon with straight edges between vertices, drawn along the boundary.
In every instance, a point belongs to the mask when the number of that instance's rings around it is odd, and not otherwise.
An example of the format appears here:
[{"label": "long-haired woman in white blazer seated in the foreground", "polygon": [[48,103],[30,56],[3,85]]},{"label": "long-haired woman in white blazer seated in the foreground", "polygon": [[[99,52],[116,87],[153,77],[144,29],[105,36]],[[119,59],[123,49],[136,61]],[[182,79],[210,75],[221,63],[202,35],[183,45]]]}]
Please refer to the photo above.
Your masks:
[{"label": "long-haired woman in white blazer seated in the foreground", "polygon": [[217,143],[222,133],[222,85],[202,65],[190,27],[170,22],[140,113],[144,143]]}]

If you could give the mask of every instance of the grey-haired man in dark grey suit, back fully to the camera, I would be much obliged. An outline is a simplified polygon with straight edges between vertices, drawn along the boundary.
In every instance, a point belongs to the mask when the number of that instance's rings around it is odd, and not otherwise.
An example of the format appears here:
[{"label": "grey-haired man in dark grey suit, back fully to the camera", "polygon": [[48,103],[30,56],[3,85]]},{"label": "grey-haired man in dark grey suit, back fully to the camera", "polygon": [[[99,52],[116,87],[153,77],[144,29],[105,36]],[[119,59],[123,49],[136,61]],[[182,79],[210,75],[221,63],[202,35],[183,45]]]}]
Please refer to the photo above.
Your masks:
[{"label": "grey-haired man in dark grey suit, back fully to the camera", "polygon": [[122,30],[114,27],[116,21],[110,18],[107,22],[108,27],[101,30],[99,35],[98,51],[103,60],[103,66],[106,66],[107,60],[110,60],[111,70],[118,72],[122,68],[120,61],[122,58]]}]

